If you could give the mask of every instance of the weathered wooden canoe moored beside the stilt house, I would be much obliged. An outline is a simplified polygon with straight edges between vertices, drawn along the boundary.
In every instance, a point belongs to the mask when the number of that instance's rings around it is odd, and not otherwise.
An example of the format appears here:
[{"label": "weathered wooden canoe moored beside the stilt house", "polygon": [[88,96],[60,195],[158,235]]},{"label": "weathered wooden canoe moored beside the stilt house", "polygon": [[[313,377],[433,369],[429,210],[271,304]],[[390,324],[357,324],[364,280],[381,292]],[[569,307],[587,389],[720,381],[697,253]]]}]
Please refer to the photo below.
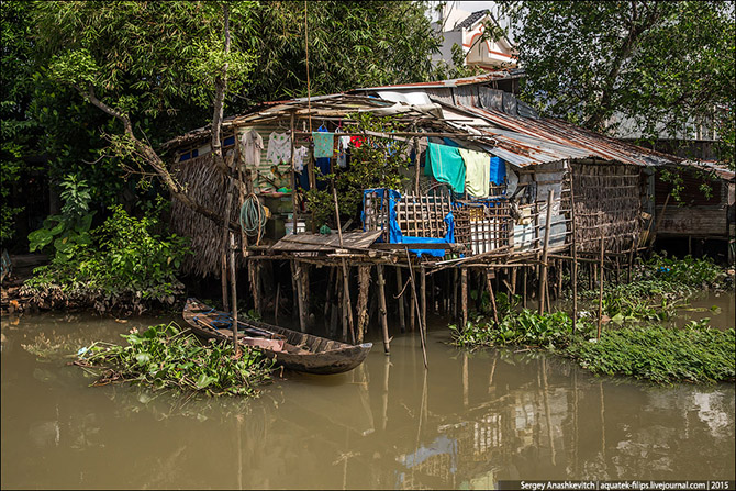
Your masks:
[{"label": "weathered wooden canoe moored beside the stilt house", "polygon": [[[187,299],[183,319],[201,337],[233,339],[232,316],[197,299]],[[238,343],[258,347],[276,365],[306,373],[330,375],[353,370],[366,359],[372,347],[372,343],[354,346],[252,320],[238,319],[237,332]]]}]

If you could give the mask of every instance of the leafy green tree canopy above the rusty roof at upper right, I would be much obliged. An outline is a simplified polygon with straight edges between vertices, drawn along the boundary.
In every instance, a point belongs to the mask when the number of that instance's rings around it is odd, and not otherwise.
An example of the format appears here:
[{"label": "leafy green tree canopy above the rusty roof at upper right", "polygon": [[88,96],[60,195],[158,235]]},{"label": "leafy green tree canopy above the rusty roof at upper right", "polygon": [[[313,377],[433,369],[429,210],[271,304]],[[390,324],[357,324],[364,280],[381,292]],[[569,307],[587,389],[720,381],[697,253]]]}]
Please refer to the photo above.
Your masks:
[{"label": "leafy green tree canopy above the rusty roof at upper right", "polygon": [[[723,1],[506,2],[524,97],[594,130],[645,138],[715,127],[734,165],[734,9]],[[612,118],[613,116],[613,118]],[[672,136],[670,136],[672,137]],[[678,136],[681,137],[681,136]]]}]

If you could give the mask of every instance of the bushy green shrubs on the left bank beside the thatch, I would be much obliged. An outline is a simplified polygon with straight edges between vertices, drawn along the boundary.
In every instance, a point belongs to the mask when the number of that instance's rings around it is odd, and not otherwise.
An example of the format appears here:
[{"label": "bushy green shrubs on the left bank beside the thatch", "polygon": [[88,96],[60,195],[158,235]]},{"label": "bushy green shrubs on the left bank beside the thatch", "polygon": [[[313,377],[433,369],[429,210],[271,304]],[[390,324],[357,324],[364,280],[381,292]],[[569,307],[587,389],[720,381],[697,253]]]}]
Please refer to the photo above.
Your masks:
[{"label": "bushy green shrubs on the left bank beside the thatch", "polygon": [[[164,204],[159,202],[159,207]],[[75,243],[36,268],[23,287],[42,306],[91,305],[99,312],[136,313],[150,305],[172,304],[183,291],[176,271],[188,241],[157,234],[160,210],[136,219],[121,205],[90,232],[89,243]]]}]

